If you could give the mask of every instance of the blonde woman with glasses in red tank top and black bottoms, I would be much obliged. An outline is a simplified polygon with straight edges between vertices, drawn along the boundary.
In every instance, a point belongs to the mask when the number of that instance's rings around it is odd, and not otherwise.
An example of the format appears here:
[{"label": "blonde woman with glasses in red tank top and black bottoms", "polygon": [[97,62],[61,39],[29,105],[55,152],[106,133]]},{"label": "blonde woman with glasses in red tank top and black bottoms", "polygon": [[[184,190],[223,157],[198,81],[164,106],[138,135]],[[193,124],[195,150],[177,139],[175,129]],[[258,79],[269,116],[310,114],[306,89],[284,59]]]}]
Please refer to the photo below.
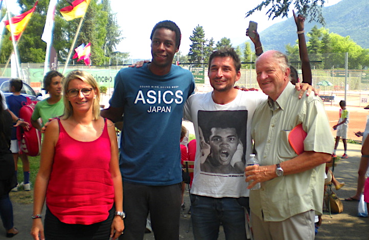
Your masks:
[{"label": "blonde woman with glasses in red tank top and black bottoms", "polygon": [[74,70],[63,81],[64,114],[43,137],[31,234],[37,240],[117,239],[125,214],[114,125],[100,117],[93,76]]}]

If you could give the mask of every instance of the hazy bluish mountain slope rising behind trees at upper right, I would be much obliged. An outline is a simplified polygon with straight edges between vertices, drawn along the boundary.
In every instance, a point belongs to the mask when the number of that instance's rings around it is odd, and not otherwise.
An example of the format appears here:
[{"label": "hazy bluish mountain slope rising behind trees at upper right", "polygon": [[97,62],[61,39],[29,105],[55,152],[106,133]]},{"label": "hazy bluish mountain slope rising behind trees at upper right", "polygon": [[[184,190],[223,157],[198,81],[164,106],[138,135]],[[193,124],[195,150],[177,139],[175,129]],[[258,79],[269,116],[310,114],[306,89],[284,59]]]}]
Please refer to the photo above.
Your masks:
[{"label": "hazy bluish mountain slope rising behind trees at upper right", "polygon": [[[341,2],[322,8],[322,14],[326,21],[325,28],[330,33],[336,33],[343,37],[350,36],[358,45],[369,49],[369,3],[368,0],[342,0]],[[314,27],[323,27],[317,22],[305,22],[305,37]],[[286,52],[286,45],[294,45],[297,40],[296,23],[292,18],[275,23],[260,33],[260,39],[264,51],[279,50]],[[243,47],[244,44],[240,46]],[[251,49],[253,45],[251,43]]]}]

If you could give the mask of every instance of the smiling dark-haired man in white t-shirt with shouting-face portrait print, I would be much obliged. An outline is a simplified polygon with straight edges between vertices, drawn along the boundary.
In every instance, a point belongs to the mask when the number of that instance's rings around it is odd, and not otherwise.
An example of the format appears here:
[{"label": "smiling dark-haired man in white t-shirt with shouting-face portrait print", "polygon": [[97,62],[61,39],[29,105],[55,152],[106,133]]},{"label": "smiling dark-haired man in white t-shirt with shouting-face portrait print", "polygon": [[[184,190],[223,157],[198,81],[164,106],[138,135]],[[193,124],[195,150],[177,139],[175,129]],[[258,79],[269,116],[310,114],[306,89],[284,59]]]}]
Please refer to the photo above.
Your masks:
[{"label": "smiling dark-haired man in white t-shirt with shouting-face portrait print", "polygon": [[234,88],[241,62],[234,49],[221,49],[209,59],[212,92],[194,94],[184,105],[197,141],[191,189],[195,239],[217,239],[220,223],[226,239],[246,239],[247,183],[242,171],[252,153],[250,126],[256,107],[267,99],[258,91]]}]

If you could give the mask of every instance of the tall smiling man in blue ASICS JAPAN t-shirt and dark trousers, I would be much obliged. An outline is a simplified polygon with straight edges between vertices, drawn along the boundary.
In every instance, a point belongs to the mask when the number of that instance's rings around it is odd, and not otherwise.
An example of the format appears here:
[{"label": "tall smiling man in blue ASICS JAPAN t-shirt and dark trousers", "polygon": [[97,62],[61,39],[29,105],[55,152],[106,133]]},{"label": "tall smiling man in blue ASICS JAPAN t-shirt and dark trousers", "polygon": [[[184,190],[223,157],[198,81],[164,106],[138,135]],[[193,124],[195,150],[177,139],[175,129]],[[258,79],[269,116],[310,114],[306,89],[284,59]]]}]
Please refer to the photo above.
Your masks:
[{"label": "tall smiling man in blue ASICS JAPAN t-shirt and dark trousers", "polygon": [[180,30],[169,20],[151,32],[152,61],[124,68],[110,107],[101,115],[123,121],[120,168],[125,230],[120,239],[143,239],[150,212],[156,239],[178,239],[181,204],[180,138],[183,105],[194,92],[190,71],[173,65]]}]

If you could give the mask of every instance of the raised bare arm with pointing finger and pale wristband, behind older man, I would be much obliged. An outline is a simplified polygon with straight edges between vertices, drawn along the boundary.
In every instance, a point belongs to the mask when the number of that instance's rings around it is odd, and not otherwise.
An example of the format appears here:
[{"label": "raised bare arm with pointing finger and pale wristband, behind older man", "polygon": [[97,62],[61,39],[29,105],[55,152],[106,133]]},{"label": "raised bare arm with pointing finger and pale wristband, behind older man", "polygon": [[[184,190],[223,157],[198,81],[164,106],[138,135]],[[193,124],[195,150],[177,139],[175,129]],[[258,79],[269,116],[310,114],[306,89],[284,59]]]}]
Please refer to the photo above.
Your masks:
[{"label": "raised bare arm with pointing finger and pale wristband, behind older man", "polygon": [[301,14],[296,16],[295,12],[293,12],[293,17],[296,22],[297,27],[297,36],[298,36],[298,52],[300,54],[300,59],[302,62],[302,70],[303,70],[303,83],[312,84],[312,74],[311,74],[311,67],[308,55],[308,48],[306,46],[306,39],[305,39],[305,17]]}]

